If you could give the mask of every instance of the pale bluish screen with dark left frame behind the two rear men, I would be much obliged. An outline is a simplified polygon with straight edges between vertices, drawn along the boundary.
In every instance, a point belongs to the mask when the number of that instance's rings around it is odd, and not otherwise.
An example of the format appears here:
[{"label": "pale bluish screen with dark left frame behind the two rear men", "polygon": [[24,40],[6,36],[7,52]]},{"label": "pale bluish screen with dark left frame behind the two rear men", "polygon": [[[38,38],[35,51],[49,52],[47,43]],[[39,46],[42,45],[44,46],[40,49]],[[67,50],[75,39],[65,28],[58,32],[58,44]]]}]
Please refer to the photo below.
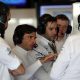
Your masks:
[{"label": "pale bluish screen with dark left frame behind the two rear men", "polygon": [[[70,20],[72,20],[72,5],[37,5],[37,19],[45,13],[56,16],[58,14],[65,14]],[[37,20],[38,21],[38,20]]]}]

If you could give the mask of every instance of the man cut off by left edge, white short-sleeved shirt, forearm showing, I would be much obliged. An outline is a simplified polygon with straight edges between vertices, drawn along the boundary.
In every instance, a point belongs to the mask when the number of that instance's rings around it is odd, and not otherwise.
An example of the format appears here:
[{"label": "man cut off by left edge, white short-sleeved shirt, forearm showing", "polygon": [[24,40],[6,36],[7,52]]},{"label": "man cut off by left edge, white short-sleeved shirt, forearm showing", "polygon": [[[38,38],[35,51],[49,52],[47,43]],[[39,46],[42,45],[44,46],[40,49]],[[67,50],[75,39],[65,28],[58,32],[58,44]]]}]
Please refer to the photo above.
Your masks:
[{"label": "man cut off by left edge, white short-sleeved shirt, forearm showing", "polygon": [[24,73],[21,61],[11,52],[11,48],[3,40],[9,19],[8,6],[0,2],[0,80],[12,80],[11,74],[16,76]]}]

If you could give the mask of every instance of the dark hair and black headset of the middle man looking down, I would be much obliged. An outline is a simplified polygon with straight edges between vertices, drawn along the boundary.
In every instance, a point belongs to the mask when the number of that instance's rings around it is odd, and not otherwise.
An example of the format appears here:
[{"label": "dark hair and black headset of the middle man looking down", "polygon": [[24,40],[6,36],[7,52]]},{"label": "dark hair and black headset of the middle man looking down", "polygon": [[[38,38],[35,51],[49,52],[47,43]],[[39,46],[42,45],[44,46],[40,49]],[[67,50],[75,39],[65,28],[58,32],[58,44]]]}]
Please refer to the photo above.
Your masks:
[{"label": "dark hair and black headset of the middle man looking down", "polygon": [[38,34],[44,34],[46,30],[46,25],[49,21],[56,21],[54,17],[52,17],[50,14],[43,14],[38,21],[38,27],[37,27],[37,33]]}]

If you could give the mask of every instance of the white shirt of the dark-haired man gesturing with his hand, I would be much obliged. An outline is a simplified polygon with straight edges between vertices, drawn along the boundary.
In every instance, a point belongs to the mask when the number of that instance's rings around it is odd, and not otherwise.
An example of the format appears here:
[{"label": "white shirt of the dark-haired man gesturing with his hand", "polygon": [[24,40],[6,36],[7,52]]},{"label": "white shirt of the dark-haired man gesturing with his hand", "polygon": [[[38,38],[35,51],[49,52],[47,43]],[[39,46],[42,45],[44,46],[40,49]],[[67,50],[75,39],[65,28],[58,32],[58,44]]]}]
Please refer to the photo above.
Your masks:
[{"label": "white shirt of the dark-haired man gesturing with his hand", "polygon": [[25,74],[16,76],[15,80],[38,80],[35,73],[42,66],[42,63],[34,58],[33,51],[27,51],[16,45],[12,51],[18,56],[25,67]]}]

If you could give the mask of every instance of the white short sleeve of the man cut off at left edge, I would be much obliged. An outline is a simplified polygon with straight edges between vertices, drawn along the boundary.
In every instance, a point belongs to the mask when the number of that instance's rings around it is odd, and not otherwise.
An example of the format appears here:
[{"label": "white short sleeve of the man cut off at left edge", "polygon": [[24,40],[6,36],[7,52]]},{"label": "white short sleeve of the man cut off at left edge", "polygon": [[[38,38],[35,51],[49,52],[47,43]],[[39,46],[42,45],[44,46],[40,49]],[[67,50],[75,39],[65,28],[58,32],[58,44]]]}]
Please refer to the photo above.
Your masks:
[{"label": "white short sleeve of the man cut off at left edge", "polygon": [[11,52],[9,47],[0,46],[0,62],[6,65],[10,70],[17,69],[21,61]]}]

